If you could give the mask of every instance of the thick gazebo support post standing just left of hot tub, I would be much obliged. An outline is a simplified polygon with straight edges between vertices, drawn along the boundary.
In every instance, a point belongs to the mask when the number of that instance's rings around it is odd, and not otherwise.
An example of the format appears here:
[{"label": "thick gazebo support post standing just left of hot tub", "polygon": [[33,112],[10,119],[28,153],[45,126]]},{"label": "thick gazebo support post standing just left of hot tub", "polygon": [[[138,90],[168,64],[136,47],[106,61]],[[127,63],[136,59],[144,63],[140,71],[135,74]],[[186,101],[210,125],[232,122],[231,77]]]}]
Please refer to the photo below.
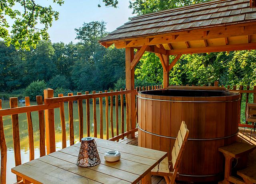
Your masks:
[{"label": "thick gazebo support post standing just left of hot tub", "polygon": [[[134,68],[131,68],[131,62],[134,59],[134,48],[125,48],[125,67],[126,67],[126,88],[128,90],[134,90]],[[136,116],[135,116],[135,94],[128,94],[128,106],[129,106],[129,130],[136,127]],[[130,135],[131,138],[135,137],[135,132]]]}]

